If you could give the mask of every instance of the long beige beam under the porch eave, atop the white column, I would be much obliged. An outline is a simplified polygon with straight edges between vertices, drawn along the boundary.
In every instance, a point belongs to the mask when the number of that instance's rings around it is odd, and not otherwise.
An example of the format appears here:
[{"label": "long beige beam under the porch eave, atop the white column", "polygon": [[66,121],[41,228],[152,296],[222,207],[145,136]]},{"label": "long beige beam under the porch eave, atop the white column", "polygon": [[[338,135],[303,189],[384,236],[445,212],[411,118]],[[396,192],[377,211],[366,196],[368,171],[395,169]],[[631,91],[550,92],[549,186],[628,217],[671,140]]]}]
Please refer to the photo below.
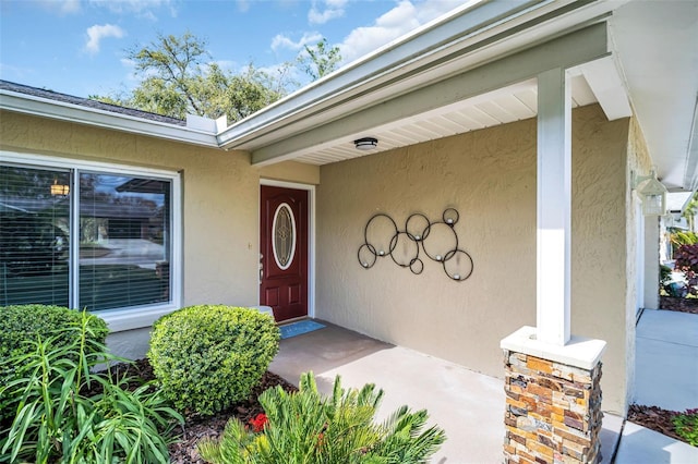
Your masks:
[{"label": "long beige beam under the porch eave, atop the white column", "polygon": [[348,134],[393,124],[395,121],[525,82],[545,70],[576,66],[606,57],[607,53],[606,25],[593,24],[539,47],[382,101],[361,112],[347,114],[325,124],[315,124],[312,130],[253,150],[252,163],[265,166],[292,159],[302,155],[303,150],[332,143]]}]

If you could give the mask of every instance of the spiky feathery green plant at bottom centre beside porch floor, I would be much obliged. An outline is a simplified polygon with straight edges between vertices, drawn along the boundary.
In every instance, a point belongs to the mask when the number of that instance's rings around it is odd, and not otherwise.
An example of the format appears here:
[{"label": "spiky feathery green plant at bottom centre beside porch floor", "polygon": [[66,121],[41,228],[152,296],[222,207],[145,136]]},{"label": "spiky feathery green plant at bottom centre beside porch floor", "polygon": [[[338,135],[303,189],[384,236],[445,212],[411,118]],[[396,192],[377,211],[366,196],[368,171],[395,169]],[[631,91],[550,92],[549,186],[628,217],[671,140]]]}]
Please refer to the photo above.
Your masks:
[{"label": "spiky feathery green plant at bottom centre beside porch floor", "polygon": [[323,398],[313,374],[305,373],[298,392],[277,387],[262,393],[260,403],[266,412],[262,427],[251,431],[230,420],[220,440],[201,440],[198,452],[214,464],[425,463],[445,441],[444,431],[436,426],[423,430],[426,411],[411,413],[407,406],[376,424],[382,398],[383,390],[371,383],[345,390],[339,377],[333,394]]}]

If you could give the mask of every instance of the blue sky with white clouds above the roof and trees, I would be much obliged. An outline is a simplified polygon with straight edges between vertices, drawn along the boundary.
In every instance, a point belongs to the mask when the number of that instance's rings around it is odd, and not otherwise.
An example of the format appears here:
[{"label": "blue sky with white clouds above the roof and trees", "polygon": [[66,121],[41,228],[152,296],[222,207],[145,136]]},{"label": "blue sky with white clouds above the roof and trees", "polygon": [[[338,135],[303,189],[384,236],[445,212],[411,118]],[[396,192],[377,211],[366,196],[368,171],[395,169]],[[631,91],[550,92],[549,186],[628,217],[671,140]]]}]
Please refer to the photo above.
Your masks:
[{"label": "blue sky with white clouds above the roof and trees", "polygon": [[[321,38],[349,63],[462,0],[0,0],[0,78],[77,97],[137,86],[127,50],[185,32],[231,72],[274,72]],[[299,71],[298,81],[308,77]]]}]

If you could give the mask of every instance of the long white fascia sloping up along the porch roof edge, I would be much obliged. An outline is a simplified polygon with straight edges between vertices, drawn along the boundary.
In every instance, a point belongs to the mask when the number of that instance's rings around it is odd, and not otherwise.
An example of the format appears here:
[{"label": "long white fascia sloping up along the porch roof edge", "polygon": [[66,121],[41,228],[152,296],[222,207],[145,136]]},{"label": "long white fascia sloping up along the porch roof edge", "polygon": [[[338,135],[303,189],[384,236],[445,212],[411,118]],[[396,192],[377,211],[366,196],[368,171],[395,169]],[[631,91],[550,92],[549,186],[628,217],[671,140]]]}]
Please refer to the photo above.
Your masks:
[{"label": "long white fascia sloping up along the porch roof edge", "polygon": [[218,136],[224,148],[238,148],[250,136],[279,123],[303,118],[304,111],[330,107],[368,89],[393,82],[425,63],[467,48],[472,40],[484,39],[485,33],[501,34],[533,16],[544,15],[568,4],[583,5],[588,1],[526,1],[490,0],[458,9],[452,15],[418,29],[412,35],[377,50],[299,91],[270,105],[264,110],[232,124]]}]

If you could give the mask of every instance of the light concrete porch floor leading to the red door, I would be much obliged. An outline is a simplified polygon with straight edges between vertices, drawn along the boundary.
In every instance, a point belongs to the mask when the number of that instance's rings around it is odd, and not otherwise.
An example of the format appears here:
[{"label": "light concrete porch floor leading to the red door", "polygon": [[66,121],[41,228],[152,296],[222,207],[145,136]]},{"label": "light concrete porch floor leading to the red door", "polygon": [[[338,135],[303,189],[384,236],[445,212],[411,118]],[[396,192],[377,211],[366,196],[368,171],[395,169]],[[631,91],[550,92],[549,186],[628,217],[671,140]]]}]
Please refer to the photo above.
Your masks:
[{"label": "light concrete porch floor leading to the red door", "polygon": [[[312,370],[325,393],[332,391],[336,375],[345,387],[375,383],[385,391],[380,419],[402,404],[426,408],[431,423],[447,435],[433,463],[503,461],[505,395],[501,379],[323,323],[324,329],[281,340],[269,370],[296,384],[301,373]],[[602,462],[610,462],[622,426],[621,417],[605,415]]]}]

